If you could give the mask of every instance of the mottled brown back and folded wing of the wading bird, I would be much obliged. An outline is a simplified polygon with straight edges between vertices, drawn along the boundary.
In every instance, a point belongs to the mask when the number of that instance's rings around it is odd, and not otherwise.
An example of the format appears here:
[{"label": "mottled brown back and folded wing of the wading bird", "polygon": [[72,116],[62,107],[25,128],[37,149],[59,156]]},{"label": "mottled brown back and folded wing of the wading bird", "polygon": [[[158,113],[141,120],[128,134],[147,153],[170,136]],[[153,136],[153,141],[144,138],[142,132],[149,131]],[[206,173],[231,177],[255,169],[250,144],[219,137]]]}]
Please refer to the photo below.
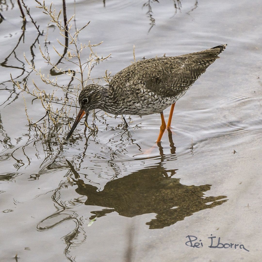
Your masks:
[{"label": "mottled brown back and folded wing of the wading bird", "polygon": [[124,89],[143,87],[159,95],[179,96],[205,72],[225,48],[226,45],[220,45],[176,57],[138,61],[114,75],[110,87],[116,95]]}]

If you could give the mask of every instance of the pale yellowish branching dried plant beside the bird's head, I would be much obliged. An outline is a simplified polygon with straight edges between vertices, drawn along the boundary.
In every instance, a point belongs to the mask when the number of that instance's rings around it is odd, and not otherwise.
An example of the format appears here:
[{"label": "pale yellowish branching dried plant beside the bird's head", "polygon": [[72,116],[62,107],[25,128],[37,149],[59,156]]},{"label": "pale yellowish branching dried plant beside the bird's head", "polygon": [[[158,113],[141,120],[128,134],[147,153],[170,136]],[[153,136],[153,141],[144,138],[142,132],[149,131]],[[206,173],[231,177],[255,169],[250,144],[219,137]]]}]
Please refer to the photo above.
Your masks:
[{"label": "pale yellowish branching dried plant beside the bird's head", "polygon": [[[20,0],[18,0],[20,1]],[[21,0],[23,3],[23,6],[27,12],[27,14],[30,16],[32,22],[36,26],[36,23],[32,19],[30,15],[29,8],[25,5],[24,0]],[[91,80],[93,82],[100,81],[100,79],[105,79],[108,83],[111,78],[110,74],[108,74],[107,71],[105,73],[105,77],[101,78],[90,78],[90,73],[94,65],[98,64],[99,62],[107,59],[111,54],[109,54],[106,57],[99,57],[93,50],[93,47],[99,46],[102,42],[98,44],[91,44],[89,41],[89,44],[82,44],[78,42],[78,34],[86,27],[88,26],[89,22],[84,25],[80,30],[76,29],[74,33],[71,33],[70,30],[72,28],[72,25],[69,24],[70,21],[74,18],[74,15],[67,20],[66,15],[66,5],[65,0],[63,0],[63,8],[57,13],[55,9],[52,8],[52,4],[50,7],[47,7],[45,5],[45,2],[43,3],[35,0],[38,3],[37,8],[42,9],[43,13],[48,15],[50,17],[51,23],[53,23],[58,29],[59,33],[62,37],[64,37],[65,41],[62,43],[57,39],[57,42],[59,46],[63,47],[63,53],[60,52],[60,50],[53,46],[54,51],[56,52],[57,56],[59,57],[58,62],[54,63],[51,61],[51,57],[48,53],[47,45],[45,45],[45,50],[42,51],[41,46],[39,46],[39,51],[41,53],[41,56],[45,60],[45,62],[52,66],[52,69],[50,70],[50,74],[44,74],[41,72],[41,69],[36,69],[35,64],[33,61],[29,61],[25,56],[25,60],[29,65],[29,68],[32,69],[37,75],[40,76],[40,79],[42,82],[46,85],[49,85],[53,90],[50,93],[47,93],[44,89],[39,88],[35,81],[33,80],[33,88],[31,89],[28,86],[28,83],[25,81],[23,83],[23,86],[17,81],[15,82],[12,78],[13,84],[23,92],[26,92],[27,94],[31,95],[33,97],[32,103],[34,101],[39,101],[43,109],[45,110],[45,116],[43,116],[40,120],[33,122],[30,120],[28,115],[28,109],[26,107],[26,98],[24,98],[25,102],[25,112],[26,117],[28,119],[30,127],[33,127],[36,136],[39,138],[46,139],[46,141],[50,141],[50,139],[55,138],[59,141],[62,140],[59,139],[59,134],[62,132],[63,127],[66,125],[67,127],[70,126],[69,124],[69,112],[71,108],[76,108],[77,104],[77,96],[79,90],[83,89],[87,83],[88,80]],[[63,19],[60,19],[60,15],[63,12]],[[36,26],[36,28],[39,30],[39,26]],[[40,32],[40,31],[39,31]],[[46,39],[47,42],[47,39]],[[89,49],[89,55],[87,56],[87,59],[83,61],[83,54],[82,52],[86,49]],[[47,52],[47,53],[46,53]],[[86,56],[86,55],[85,55]],[[65,63],[63,63],[63,66],[66,66],[67,69],[62,69],[58,65],[61,63],[62,59],[64,59]],[[68,64],[72,65],[74,69],[70,69],[68,67]],[[63,74],[67,75],[70,78],[68,85],[61,85],[58,82],[58,75]],[[80,74],[80,75],[79,75]],[[50,77],[54,77],[53,79]],[[76,86],[71,86],[73,84],[73,81],[77,82]],[[62,91],[59,93],[59,96],[57,95],[57,91]],[[62,97],[61,97],[62,96]],[[57,108],[53,108],[53,106],[58,106]],[[97,133],[97,127],[94,122],[95,116],[93,116],[93,123],[92,128],[88,127],[90,129],[90,133],[92,135],[96,135]]]}]

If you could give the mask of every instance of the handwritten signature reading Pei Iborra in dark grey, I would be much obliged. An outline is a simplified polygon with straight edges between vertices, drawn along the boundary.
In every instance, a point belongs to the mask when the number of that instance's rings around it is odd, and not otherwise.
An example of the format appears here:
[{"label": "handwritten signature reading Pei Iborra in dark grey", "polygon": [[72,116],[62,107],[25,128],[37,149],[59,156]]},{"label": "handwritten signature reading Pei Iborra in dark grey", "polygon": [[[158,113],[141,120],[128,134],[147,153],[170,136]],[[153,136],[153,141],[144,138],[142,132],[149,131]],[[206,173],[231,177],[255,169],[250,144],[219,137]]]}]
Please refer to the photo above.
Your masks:
[{"label": "handwritten signature reading Pei Iborra in dark grey", "polygon": [[[198,240],[198,238],[197,237],[195,237],[195,236],[186,236],[186,238],[188,238],[188,241],[187,242],[185,242],[185,244],[187,245],[187,246],[189,246],[189,247],[196,247],[196,248],[200,248],[200,247],[204,247],[204,244],[203,244],[203,242],[202,242],[202,240],[200,239],[200,240]],[[220,241],[220,237],[218,238],[218,241],[217,241],[217,243],[216,243],[216,240],[215,240],[215,236],[212,236],[212,234],[211,234],[211,237],[208,237],[208,238],[210,238],[211,239],[211,243],[210,243],[210,245],[208,246],[209,248],[233,248],[233,249],[237,249],[237,248],[239,248],[239,249],[244,249],[244,250],[246,250],[247,252],[249,252],[249,250],[248,249],[246,249],[245,247],[244,247],[244,245],[243,244],[234,244],[234,243],[225,243],[225,244],[223,244],[221,241]],[[198,240],[198,242],[196,242]]]}]

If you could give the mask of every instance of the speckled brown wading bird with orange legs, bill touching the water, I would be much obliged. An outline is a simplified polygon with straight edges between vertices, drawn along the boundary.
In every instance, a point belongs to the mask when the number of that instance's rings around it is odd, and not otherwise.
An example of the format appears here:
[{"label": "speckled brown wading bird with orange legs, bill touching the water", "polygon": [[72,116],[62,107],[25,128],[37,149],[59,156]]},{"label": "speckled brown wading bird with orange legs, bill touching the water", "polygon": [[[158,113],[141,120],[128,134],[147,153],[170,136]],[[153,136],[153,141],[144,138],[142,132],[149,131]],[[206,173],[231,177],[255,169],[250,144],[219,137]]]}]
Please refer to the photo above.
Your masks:
[{"label": "speckled brown wading bird with orange legs, bill touching the water", "polygon": [[[80,111],[66,140],[84,114],[101,109],[110,114],[160,113],[162,124],[156,142],[170,128],[176,101],[225,50],[225,45],[176,57],[140,60],[114,75],[108,87],[90,84],[79,94]],[[163,110],[171,106],[166,125]]]}]

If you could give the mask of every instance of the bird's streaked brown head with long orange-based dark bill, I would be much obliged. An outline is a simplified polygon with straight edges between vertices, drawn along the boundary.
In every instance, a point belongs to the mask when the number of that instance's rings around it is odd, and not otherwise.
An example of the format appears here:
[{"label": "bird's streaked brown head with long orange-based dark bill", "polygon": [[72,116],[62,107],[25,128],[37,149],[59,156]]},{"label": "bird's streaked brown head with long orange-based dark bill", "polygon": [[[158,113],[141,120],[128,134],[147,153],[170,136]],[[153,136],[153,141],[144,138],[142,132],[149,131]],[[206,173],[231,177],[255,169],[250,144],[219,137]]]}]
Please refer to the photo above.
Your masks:
[{"label": "bird's streaked brown head with long orange-based dark bill", "polygon": [[90,110],[100,108],[105,103],[105,95],[104,95],[105,87],[101,85],[91,84],[86,86],[79,94],[78,102],[80,106],[80,110],[78,112],[77,118],[75,119],[72,128],[70,129],[66,140],[70,138],[73,131],[77,127],[77,124],[81,120],[81,118],[87,114]]}]

